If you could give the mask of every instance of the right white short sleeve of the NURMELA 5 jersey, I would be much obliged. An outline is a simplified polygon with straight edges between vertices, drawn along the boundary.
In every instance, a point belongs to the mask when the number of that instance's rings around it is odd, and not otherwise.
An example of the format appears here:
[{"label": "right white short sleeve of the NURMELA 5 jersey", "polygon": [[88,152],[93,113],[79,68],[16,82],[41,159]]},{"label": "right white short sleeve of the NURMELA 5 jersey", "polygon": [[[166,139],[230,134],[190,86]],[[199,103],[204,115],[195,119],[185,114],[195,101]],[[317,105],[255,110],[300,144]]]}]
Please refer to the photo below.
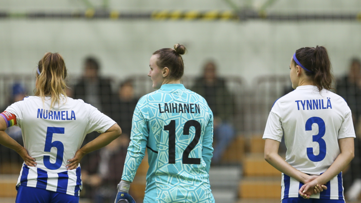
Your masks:
[{"label": "right white short sleeve of the NURMELA 5 jersey", "polygon": [[93,131],[103,133],[116,123],[114,120],[100,112],[94,106],[90,104],[85,105],[89,109],[88,126],[86,129],[87,133],[91,133]]}]

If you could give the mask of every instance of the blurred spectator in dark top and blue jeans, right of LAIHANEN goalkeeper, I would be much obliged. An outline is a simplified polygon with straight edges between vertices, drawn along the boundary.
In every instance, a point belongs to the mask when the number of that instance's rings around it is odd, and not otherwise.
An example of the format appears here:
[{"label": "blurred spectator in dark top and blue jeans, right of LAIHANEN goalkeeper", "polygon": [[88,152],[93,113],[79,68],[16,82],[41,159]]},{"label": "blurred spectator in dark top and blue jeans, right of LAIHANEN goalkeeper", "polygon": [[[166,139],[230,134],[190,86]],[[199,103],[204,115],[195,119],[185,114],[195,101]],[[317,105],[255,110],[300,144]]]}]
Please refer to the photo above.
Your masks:
[{"label": "blurred spectator in dark top and blue jeans, right of LAIHANEN goalkeeper", "polygon": [[236,111],[233,95],[227,89],[225,80],[217,75],[213,61],[206,63],[203,76],[196,79],[192,91],[203,96],[213,112],[215,147],[212,162],[217,164],[235,135],[232,126]]}]

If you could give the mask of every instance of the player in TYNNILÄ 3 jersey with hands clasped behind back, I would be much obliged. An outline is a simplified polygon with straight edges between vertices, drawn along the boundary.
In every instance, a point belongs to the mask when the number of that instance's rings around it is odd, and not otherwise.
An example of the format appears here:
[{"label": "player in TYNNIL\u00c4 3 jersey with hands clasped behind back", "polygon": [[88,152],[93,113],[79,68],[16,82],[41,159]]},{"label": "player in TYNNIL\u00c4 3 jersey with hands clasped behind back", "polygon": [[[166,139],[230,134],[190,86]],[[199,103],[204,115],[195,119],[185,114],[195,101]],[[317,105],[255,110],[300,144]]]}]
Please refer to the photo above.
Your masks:
[{"label": "player in TYNNIL\u00c4 3 jersey with hands clasped behind back", "polygon": [[[355,133],[346,102],[329,91],[326,49],[298,49],[290,70],[295,90],[274,103],[263,135],[266,161],[282,172],[282,202],[344,202],[341,171],[353,158]],[[283,135],[286,160],[277,153]]]}]

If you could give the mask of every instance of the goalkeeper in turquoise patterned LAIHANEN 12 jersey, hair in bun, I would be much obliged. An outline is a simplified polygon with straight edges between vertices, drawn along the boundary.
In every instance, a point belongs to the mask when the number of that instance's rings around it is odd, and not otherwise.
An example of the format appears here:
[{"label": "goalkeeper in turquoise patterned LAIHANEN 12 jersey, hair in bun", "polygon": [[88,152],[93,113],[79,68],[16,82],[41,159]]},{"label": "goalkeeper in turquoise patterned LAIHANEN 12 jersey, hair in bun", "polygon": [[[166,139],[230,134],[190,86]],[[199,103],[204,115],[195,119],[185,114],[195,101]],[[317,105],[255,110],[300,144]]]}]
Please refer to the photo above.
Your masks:
[{"label": "goalkeeper in turquoise patterned LAIHANEN 12 jersey, hair in bun", "polygon": [[130,182],[148,152],[144,203],[214,202],[209,182],[213,114],[206,100],[180,84],[183,45],[150,57],[148,76],[158,89],[138,101],[116,202],[133,199]]}]

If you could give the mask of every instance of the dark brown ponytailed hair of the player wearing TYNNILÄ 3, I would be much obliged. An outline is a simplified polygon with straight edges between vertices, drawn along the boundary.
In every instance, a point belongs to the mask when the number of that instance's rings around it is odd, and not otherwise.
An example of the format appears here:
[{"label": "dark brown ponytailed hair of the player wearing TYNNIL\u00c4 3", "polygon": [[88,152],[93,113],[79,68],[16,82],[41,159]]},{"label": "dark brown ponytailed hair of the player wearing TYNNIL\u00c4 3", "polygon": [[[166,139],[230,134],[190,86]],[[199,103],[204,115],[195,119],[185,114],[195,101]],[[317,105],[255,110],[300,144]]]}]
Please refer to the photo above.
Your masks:
[{"label": "dark brown ponytailed hair of the player wearing TYNNIL\u00c4 3", "polygon": [[[309,70],[304,73],[311,78],[319,91],[334,89],[334,77],[326,48],[323,46],[304,47],[296,51],[296,58]],[[295,63],[294,59],[292,61]]]}]

